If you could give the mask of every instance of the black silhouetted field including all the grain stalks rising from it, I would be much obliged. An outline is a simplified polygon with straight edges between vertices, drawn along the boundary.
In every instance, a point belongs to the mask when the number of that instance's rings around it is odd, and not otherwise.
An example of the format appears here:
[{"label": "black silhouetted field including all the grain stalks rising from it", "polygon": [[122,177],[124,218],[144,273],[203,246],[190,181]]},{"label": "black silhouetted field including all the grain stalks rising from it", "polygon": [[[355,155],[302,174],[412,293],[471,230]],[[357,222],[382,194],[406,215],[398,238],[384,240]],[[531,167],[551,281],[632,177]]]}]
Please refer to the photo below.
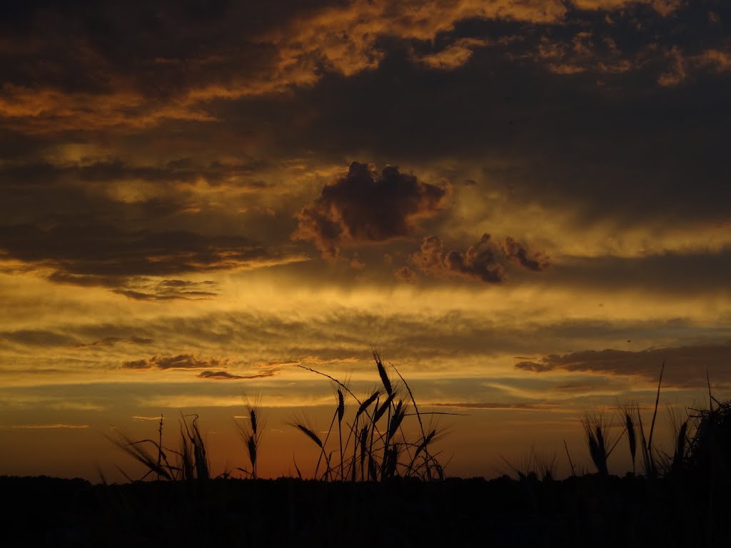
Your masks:
[{"label": "black silhouetted field including all the grain stalks rising from it", "polygon": [[[311,439],[319,461],[305,480],[257,479],[264,417],[249,406],[240,435],[250,468],[211,474],[197,417],[183,417],[176,449],[157,441],[112,441],[142,463],[144,478],[92,485],[80,479],[0,478],[10,508],[0,547],[726,547],[731,539],[731,402],[708,391],[708,409],[676,425],[673,452],[653,444],[654,414],[621,408],[637,473],[610,474],[618,437],[607,417],[583,427],[595,474],[557,480],[556,457],[532,454],[517,479],[445,476],[439,438],[409,385],[391,381],[374,352],[383,388],[357,397],[334,378],[336,408],[324,439],[306,417],[291,426]],[[664,367],[663,367],[664,369]],[[318,373],[323,375],[323,373]],[[346,417],[344,400],[357,411]],[[417,422],[408,438],[404,420]],[[613,439],[611,439],[613,438]],[[639,458],[636,458],[639,455]],[[635,466],[635,461],[639,466]],[[510,463],[508,463],[510,465]],[[235,479],[236,473],[243,479]]]}]

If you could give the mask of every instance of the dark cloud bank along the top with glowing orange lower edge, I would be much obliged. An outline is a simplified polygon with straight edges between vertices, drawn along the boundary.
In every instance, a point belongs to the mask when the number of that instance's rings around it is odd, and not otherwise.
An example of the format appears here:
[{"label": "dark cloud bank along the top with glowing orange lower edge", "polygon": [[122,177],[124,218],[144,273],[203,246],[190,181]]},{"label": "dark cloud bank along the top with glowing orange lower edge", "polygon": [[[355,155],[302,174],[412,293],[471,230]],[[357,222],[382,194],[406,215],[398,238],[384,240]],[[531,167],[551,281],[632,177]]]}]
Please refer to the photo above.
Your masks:
[{"label": "dark cloud bank along the top with glowing orange lower edge", "polygon": [[[412,57],[428,70],[447,70],[468,63],[481,37],[463,34],[480,23],[556,34],[564,27],[604,28],[596,10],[606,10],[629,13],[635,26],[649,28],[654,37],[656,19],[683,20],[687,4],[695,3],[284,0],[216,3],[205,19],[192,17],[179,2],[163,2],[159,10],[116,4],[47,4],[29,9],[22,23],[8,14],[8,38],[0,50],[0,117],[7,126],[42,134],[140,132],[171,122],[215,125],[224,119],[217,104],[287,96],[328,75],[357,77],[379,69],[393,53],[392,42],[446,42]],[[68,28],[77,41],[69,43]]]}]

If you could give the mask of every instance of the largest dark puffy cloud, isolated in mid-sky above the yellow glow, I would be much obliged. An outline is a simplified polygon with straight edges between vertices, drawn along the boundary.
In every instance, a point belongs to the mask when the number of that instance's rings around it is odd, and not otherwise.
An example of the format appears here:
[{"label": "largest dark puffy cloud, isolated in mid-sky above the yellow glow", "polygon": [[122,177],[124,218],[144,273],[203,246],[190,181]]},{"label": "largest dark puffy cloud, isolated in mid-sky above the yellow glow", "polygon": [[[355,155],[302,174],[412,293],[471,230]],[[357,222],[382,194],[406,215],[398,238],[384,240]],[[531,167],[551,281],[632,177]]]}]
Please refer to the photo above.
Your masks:
[{"label": "largest dark puffy cloud, isolated in mid-sky above the yellow glow", "polygon": [[385,167],[379,175],[354,161],[347,175],[326,185],[315,202],[300,211],[292,237],[314,240],[330,258],[338,256],[342,246],[407,237],[418,219],[442,209],[447,191],[398,167]]}]

